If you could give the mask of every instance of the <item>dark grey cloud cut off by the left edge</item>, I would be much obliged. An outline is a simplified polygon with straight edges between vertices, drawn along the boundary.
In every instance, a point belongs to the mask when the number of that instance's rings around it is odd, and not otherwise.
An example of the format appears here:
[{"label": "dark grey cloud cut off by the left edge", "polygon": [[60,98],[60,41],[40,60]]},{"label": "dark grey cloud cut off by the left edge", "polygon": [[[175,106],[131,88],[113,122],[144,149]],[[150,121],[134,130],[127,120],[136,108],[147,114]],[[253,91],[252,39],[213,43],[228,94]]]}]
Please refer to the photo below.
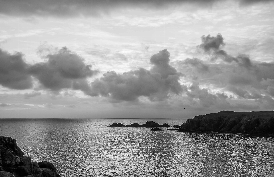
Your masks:
[{"label": "dark grey cloud cut off by the left edge", "polygon": [[23,60],[23,54],[10,54],[0,49],[0,84],[11,89],[28,89],[32,79],[28,72],[29,65]]}]

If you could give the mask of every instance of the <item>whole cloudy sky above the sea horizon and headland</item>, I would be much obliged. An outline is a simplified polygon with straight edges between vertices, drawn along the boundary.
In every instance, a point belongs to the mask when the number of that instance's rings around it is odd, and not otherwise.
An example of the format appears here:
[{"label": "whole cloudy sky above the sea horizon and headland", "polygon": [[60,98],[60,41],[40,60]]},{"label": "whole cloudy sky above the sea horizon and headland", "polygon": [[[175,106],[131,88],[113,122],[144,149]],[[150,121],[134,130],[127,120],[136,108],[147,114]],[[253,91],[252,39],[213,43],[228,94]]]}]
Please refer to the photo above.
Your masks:
[{"label": "whole cloudy sky above the sea horizon and headland", "polygon": [[0,4],[0,117],[274,110],[274,1]]}]

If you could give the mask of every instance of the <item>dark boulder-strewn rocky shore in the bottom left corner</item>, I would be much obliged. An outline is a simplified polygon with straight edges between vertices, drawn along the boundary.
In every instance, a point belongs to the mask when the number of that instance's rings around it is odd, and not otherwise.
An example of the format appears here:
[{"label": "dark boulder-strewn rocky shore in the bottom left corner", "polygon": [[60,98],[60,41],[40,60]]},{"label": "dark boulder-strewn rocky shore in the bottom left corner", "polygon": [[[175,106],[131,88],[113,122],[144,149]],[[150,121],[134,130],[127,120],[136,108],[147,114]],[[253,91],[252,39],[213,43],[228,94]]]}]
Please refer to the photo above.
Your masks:
[{"label": "dark boulder-strewn rocky shore in the bottom left corner", "polygon": [[0,177],[61,177],[50,162],[32,162],[11,137],[0,136]]}]

